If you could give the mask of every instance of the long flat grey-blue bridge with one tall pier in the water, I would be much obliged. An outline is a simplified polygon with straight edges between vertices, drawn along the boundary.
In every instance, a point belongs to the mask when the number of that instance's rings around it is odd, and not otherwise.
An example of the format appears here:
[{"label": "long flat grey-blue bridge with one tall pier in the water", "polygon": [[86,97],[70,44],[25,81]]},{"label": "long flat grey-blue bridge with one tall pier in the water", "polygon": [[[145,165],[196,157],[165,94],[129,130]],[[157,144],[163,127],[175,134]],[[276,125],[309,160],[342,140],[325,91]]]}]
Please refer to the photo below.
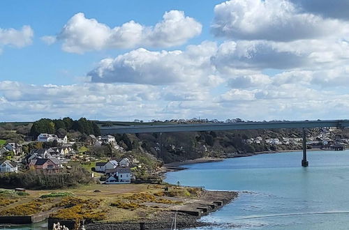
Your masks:
[{"label": "long flat grey-blue bridge with one tall pier in the water", "polygon": [[273,121],[273,122],[239,122],[239,123],[195,123],[195,124],[164,124],[164,125],[118,125],[102,127],[102,135],[146,132],[195,132],[195,131],[223,131],[223,130],[255,130],[302,128],[303,129],[303,159],[302,166],[308,167],[306,160],[306,129],[307,128],[346,128],[349,120],[328,121]]}]

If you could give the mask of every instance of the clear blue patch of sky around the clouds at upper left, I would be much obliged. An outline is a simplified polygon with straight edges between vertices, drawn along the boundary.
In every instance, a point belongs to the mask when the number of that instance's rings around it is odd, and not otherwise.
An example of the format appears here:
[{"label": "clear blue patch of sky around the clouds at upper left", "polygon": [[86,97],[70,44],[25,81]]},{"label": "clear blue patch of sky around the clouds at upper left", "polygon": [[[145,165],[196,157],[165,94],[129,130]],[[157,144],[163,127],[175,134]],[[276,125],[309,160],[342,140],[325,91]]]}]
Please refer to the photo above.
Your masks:
[{"label": "clear blue patch of sky around the clouds at upper left", "polygon": [[[0,79],[29,84],[73,84],[75,77],[86,75],[98,61],[129,49],[103,50],[84,55],[60,52],[60,45],[47,47],[41,36],[60,32],[67,20],[76,13],[98,19],[110,26],[130,20],[145,25],[156,24],[165,11],[184,10],[200,22],[210,24],[213,8],[220,1],[0,1],[0,28],[19,29],[30,25],[34,29],[33,45],[24,49],[5,47],[0,56]],[[198,10],[200,8],[200,10]],[[209,15],[209,17],[208,17]],[[202,29],[200,43],[210,39],[209,27]],[[181,46],[173,47],[181,48]],[[21,68],[14,68],[20,64]],[[62,78],[64,81],[62,81]]]}]

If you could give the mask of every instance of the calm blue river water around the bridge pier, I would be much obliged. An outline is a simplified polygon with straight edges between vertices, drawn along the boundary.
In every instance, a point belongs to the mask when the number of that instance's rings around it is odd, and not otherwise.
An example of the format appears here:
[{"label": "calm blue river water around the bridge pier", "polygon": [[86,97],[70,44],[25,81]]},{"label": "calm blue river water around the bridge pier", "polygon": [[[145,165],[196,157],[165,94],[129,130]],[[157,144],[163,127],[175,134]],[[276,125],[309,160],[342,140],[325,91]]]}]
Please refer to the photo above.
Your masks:
[{"label": "calm blue river water around the bridge pier", "polygon": [[199,229],[349,229],[349,151],[272,153],[186,165],[166,181],[239,191]]}]

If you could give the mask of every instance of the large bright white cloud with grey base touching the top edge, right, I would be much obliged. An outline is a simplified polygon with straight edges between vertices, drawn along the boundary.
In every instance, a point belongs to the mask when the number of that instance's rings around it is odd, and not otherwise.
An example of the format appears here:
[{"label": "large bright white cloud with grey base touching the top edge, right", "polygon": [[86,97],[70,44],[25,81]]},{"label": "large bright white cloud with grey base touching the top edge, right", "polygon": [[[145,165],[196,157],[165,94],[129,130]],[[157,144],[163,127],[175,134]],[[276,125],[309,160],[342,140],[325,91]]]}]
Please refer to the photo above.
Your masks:
[{"label": "large bright white cloud with grey base touching the top edge, right", "polygon": [[286,0],[225,1],[215,6],[214,15],[213,33],[232,39],[290,41],[348,31],[346,24],[300,12]]}]

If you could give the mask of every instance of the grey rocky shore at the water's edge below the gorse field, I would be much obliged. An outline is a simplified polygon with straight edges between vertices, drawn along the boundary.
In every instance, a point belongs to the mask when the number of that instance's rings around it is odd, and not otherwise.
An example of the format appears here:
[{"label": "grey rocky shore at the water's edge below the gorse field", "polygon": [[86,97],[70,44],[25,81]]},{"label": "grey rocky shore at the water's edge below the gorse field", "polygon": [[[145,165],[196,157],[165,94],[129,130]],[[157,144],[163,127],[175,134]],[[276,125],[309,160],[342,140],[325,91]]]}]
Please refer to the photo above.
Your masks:
[{"label": "grey rocky shore at the water's edge below the gorse field", "polygon": [[[221,201],[222,205],[212,208],[208,212],[202,213],[207,215],[210,211],[218,210],[238,196],[237,192],[228,191],[203,191],[202,195],[193,201],[188,201],[185,206],[178,206],[177,211],[177,227],[189,228],[189,227],[202,227],[207,225],[214,225],[212,223],[200,222],[200,215],[191,215],[188,213],[181,213],[181,210],[198,210],[205,205],[214,204],[214,201]],[[145,229],[171,229],[172,221],[174,220],[175,210],[159,210],[156,213],[151,213],[147,218],[139,220],[137,222],[107,222],[89,224],[86,226],[87,230],[139,230],[140,223],[145,223]]]}]

